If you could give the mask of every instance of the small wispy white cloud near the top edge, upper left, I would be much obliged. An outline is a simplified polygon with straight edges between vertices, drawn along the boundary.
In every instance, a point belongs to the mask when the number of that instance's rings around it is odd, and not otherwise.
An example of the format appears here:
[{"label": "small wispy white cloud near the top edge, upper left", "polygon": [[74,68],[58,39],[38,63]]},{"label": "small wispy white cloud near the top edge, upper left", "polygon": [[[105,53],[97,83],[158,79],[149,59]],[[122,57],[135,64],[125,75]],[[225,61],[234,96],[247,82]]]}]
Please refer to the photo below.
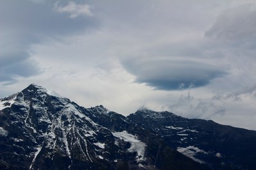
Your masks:
[{"label": "small wispy white cloud near the top edge, upper left", "polygon": [[91,11],[92,6],[88,4],[76,4],[70,1],[66,6],[60,6],[59,3],[56,3],[54,9],[60,13],[70,14],[70,18],[74,19],[79,16],[89,16],[92,17],[93,13]]}]

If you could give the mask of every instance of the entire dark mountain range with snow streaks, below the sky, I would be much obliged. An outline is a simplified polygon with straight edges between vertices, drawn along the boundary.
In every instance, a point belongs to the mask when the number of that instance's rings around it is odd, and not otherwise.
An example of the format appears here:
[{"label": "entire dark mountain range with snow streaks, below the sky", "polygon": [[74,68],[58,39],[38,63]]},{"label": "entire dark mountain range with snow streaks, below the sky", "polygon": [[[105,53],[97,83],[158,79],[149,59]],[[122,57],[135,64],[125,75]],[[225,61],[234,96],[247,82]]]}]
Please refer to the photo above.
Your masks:
[{"label": "entire dark mountain range with snow streaks, below the sky", "polygon": [[170,112],[127,117],[36,84],[0,99],[0,169],[253,169],[256,132]]}]

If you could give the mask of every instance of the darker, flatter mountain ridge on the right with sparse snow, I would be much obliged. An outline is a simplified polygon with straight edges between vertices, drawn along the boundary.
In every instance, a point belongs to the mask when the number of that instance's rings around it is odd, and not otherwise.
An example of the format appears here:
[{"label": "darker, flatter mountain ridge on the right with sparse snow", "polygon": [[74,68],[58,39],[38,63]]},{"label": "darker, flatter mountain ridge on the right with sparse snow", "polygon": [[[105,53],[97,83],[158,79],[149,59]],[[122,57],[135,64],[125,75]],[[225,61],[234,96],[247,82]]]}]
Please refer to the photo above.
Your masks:
[{"label": "darker, flatter mountain ridge on the right with sparse snow", "polygon": [[187,119],[171,112],[137,111],[127,116],[196,162],[212,169],[255,169],[256,132]]}]

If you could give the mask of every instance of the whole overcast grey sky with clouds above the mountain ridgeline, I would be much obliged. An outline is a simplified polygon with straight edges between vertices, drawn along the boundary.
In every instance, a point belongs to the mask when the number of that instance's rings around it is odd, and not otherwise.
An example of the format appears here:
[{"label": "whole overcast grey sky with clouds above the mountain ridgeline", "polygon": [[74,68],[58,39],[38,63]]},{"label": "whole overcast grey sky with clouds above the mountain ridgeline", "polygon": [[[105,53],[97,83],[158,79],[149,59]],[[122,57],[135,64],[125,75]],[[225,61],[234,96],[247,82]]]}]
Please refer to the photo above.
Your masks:
[{"label": "whole overcast grey sky with clouds above the mountain ridgeline", "polygon": [[255,73],[254,0],[0,1],[0,98],[35,83],[256,130]]}]

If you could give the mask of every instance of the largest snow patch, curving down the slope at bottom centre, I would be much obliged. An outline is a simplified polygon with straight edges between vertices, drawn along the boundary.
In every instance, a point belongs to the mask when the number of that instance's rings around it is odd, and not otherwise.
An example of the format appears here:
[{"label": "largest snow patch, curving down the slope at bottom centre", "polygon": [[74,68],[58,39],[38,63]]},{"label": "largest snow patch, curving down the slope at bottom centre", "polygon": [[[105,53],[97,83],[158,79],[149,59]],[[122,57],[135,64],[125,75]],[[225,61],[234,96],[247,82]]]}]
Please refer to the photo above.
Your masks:
[{"label": "largest snow patch, curving down the slope at bottom centre", "polygon": [[146,144],[139,141],[135,135],[128,134],[126,131],[112,132],[112,134],[115,137],[118,137],[119,139],[122,139],[125,142],[129,142],[131,144],[131,147],[127,151],[129,152],[136,151],[137,152],[136,160],[138,162],[145,160],[144,154],[145,154]]}]

